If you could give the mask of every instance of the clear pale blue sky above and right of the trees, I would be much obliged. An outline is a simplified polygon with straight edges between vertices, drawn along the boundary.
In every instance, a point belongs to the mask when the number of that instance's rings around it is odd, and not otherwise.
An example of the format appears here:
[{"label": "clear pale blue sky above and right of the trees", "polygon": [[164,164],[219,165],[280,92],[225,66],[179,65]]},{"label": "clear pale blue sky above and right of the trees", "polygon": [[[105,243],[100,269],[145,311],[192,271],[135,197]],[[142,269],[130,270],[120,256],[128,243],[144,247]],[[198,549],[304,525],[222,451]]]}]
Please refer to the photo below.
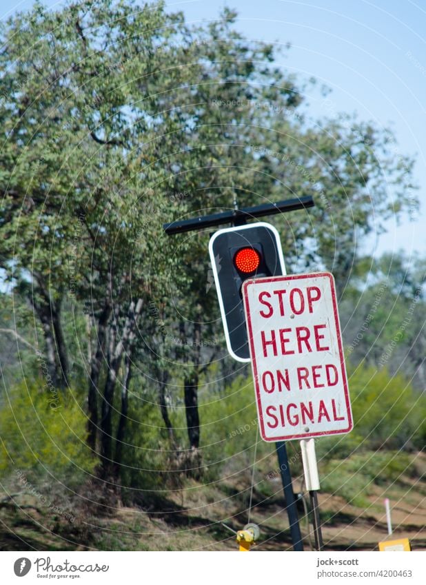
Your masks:
[{"label": "clear pale blue sky above and right of the trees", "polygon": [[[2,0],[0,17],[27,10],[32,0]],[[49,7],[61,2],[45,0]],[[139,2],[140,3],[140,2]],[[423,4],[423,6],[422,6]],[[387,223],[387,234],[372,237],[369,252],[426,256],[426,2],[419,0],[187,0],[168,2],[189,22],[215,19],[224,6],[239,12],[237,27],[249,39],[291,43],[278,59],[301,79],[327,85],[327,112],[318,90],[305,96],[310,114],[357,112],[378,127],[392,127],[394,156],[416,156],[414,182],[420,186],[420,216],[402,225]],[[311,91],[311,90],[308,90]]]}]

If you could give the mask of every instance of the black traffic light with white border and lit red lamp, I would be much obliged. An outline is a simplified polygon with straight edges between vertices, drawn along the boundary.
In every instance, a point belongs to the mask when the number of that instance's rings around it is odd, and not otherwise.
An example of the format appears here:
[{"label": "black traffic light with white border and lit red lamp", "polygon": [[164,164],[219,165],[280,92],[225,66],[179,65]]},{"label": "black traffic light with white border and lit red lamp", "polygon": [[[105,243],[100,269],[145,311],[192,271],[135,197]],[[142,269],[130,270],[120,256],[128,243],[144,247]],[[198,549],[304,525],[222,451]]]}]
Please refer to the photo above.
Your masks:
[{"label": "black traffic light with white border and lit red lamp", "polygon": [[209,252],[227,349],[235,360],[250,362],[241,287],[247,278],[285,274],[279,234],[269,223],[219,229]]}]

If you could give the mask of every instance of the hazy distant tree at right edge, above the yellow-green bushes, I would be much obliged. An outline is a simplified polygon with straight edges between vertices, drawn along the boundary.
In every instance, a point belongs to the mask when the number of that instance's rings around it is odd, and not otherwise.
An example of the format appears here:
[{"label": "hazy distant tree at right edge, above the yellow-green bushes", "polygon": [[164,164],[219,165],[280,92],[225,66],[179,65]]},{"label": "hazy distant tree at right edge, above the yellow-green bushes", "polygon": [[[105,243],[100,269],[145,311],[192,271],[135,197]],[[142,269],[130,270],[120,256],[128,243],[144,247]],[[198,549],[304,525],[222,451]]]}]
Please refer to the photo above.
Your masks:
[{"label": "hazy distant tree at right edge, above the yellow-green bushes", "polygon": [[[425,260],[405,254],[365,258],[341,303],[343,335],[352,362],[405,373],[424,390]],[[358,280],[358,282],[357,282]],[[369,285],[365,286],[365,282]]]}]

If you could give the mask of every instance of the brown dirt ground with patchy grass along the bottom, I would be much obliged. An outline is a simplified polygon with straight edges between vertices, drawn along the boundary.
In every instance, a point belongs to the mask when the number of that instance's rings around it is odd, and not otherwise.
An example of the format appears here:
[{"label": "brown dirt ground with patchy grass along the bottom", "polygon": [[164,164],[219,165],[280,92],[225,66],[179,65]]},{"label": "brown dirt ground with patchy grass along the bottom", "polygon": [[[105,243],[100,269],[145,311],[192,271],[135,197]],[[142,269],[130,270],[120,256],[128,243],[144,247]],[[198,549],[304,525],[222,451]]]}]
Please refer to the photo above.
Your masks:
[{"label": "brown dirt ground with patchy grass along the bottom", "polygon": [[[426,454],[418,458],[426,469]],[[296,478],[294,491],[298,485]],[[385,497],[392,509],[392,537],[387,535]],[[394,484],[374,485],[367,502],[360,508],[343,497],[319,493],[325,551],[374,551],[378,542],[388,538],[408,538],[414,551],[426,550],[425,475],[407,474]],[[132,507],[118,502],[108,515],[76,512],[77,520],[70,524],[48,513],[30,495],[10,499],[0,494],[0,550],[237,551],[229,528],[236,531],[255,522],[261,537],[252,551],[290,551],[283,504],[278,478],[272,480],[272,495],[251,491],[243,480],[214,484],[190,480],[183,489],[169,493],[167,500],[147,500]],[[306,498],[298,500],[307,551],[314,550],[308,505]]]}]

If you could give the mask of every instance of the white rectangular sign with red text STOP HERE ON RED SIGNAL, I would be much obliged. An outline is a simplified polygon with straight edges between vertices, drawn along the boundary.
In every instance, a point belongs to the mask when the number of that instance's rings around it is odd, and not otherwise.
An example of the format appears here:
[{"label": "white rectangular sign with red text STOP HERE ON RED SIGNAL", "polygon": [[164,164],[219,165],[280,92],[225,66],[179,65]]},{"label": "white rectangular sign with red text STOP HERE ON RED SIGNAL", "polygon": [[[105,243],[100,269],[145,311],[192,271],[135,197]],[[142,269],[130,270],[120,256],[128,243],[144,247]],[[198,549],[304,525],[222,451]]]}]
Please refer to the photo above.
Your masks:
[{"label": "white rectangular sign with red text STOP HERE ON RED SIGNAL", "polygon": [[352,412],[332,274],[245,280],[243,300],[263,440],[349,433]]}]

